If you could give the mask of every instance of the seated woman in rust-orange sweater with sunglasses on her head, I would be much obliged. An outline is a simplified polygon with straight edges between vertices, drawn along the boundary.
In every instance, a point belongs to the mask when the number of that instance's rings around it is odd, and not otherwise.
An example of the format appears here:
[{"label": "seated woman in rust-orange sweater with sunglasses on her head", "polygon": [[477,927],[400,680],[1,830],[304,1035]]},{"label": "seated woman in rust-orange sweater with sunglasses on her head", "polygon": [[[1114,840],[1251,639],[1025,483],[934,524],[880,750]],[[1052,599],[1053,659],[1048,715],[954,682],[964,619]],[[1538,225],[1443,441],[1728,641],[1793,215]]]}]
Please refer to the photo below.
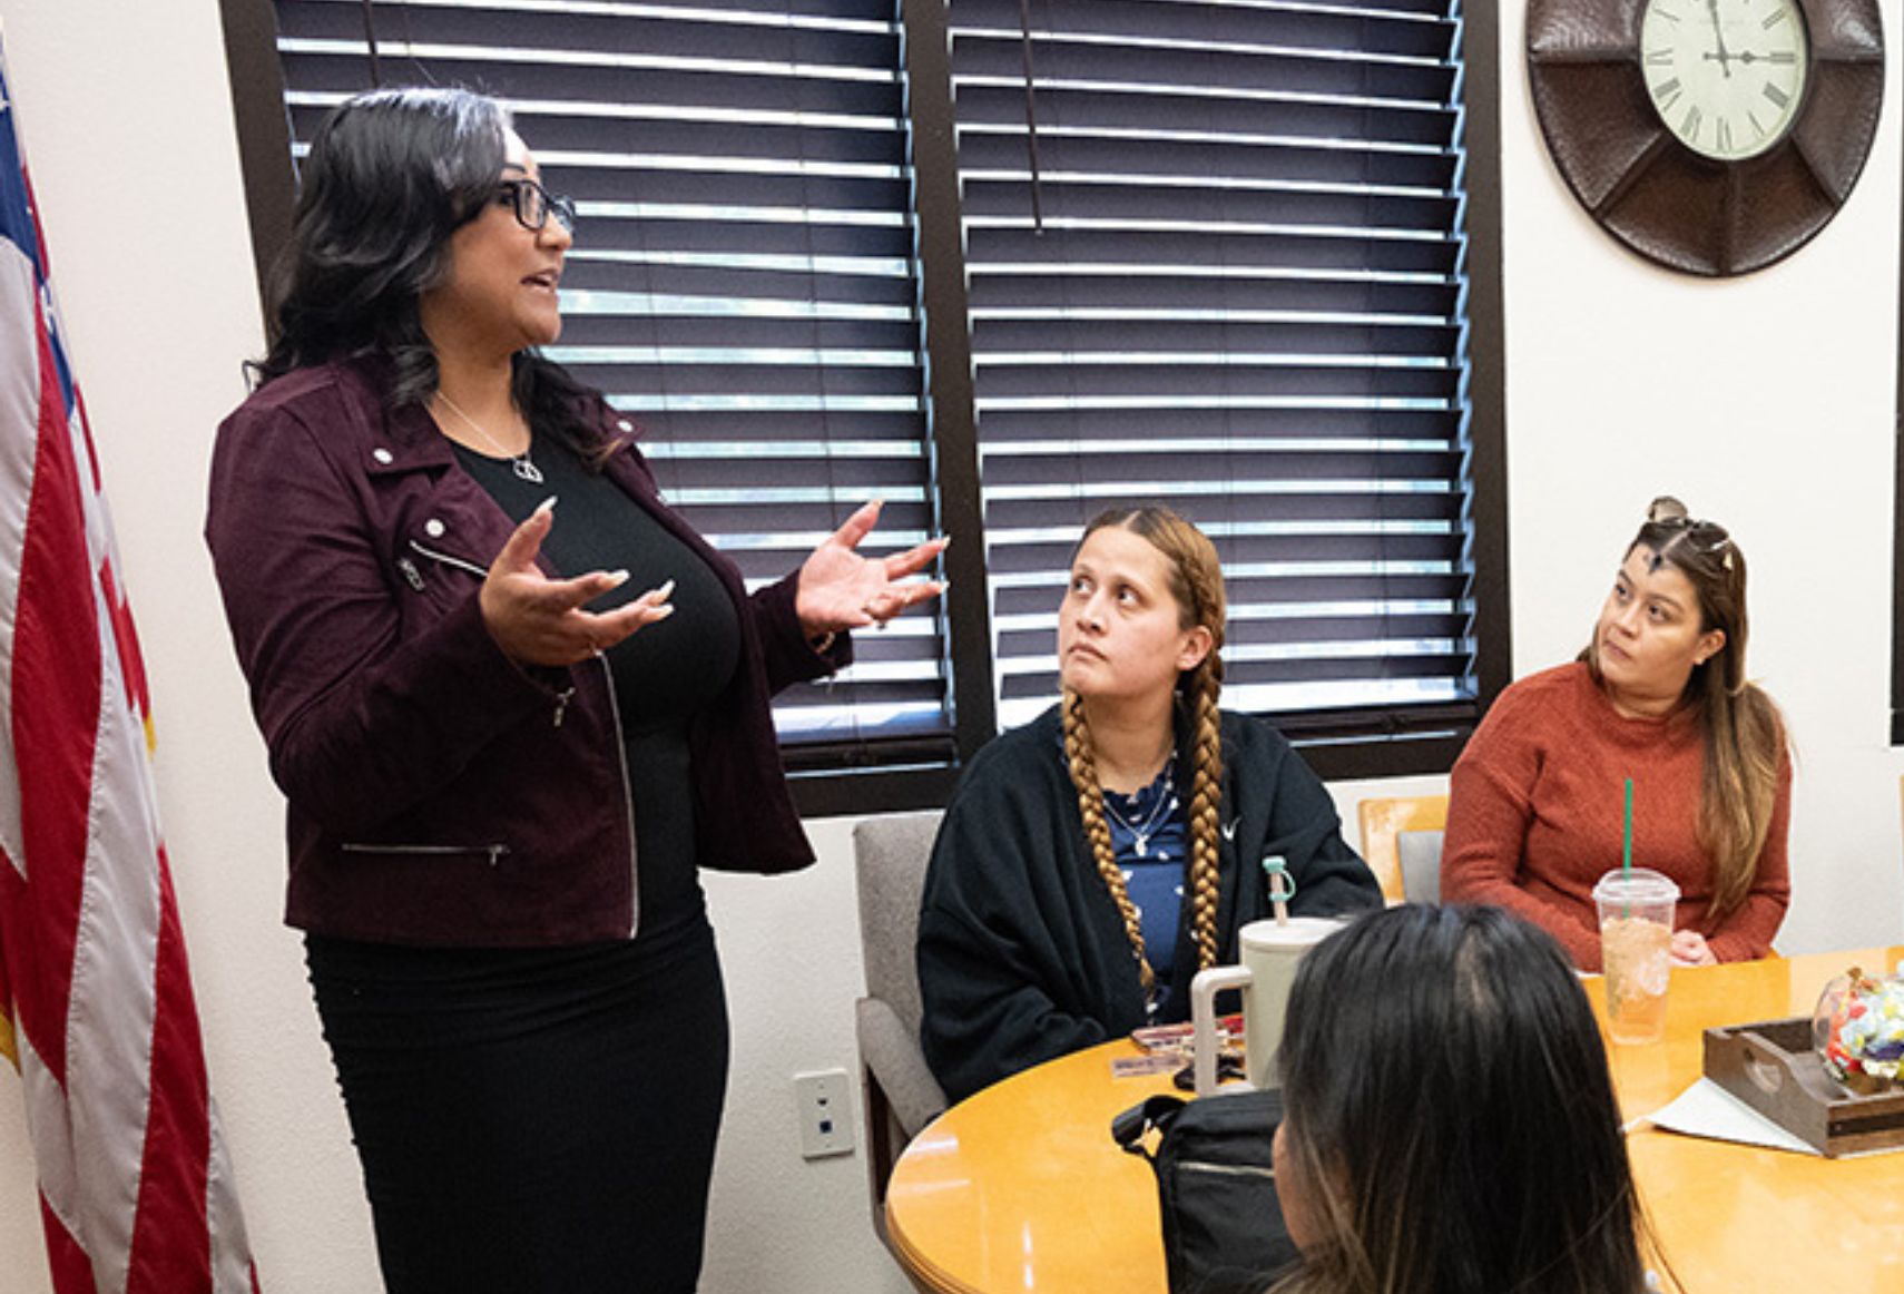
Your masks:
[{"label": "seated woman in rust-orange sweater with sunglasses on her head", "polygon": [[1489,708],[1449,778],[1441,898],[1500,904],[1599,970],[1594,883],[1624,849],[1679,885],[1677,965],[1765,957],[1792,896],[1792,761],[1746,679],[1746,554],[1656,499],[1594,639]]}]

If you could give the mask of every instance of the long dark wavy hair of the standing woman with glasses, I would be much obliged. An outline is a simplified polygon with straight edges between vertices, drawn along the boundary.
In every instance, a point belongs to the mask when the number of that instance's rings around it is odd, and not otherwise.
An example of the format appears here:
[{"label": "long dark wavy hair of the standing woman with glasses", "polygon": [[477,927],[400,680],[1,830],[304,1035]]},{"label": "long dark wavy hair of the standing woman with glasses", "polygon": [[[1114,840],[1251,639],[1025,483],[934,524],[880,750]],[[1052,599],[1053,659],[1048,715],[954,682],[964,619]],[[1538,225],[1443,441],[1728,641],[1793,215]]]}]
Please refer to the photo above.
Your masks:
[{"label": "long dark wavy hair of the standing woman with glasses", "polygon": [[[449,272],[449,240],[497,196],[508,112],[468,89],[373,89],[337,105],[310,137],[291,242],[272,274],[270,346],[248,365],[265,386],[354,356],[390,365],[392,405],[436,394],[436,352],[417,301]],[[600,398],[522,350],[516,405],[537,432],[604,451]]]}]

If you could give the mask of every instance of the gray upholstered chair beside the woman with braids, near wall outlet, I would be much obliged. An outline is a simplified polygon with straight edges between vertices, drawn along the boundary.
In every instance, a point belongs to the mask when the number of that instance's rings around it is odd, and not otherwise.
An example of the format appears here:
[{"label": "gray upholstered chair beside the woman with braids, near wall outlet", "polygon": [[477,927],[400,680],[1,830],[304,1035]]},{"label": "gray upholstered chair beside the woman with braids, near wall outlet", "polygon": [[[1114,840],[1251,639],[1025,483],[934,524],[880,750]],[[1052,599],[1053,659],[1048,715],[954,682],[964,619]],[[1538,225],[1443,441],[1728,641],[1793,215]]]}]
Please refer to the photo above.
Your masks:
[{"label": "gray upholstered chair beside the woman with braids, near wall outlet", "polygon": [[859,942],[866,995],[859,999],[859,1058],[866,1113],[872,1224],[885,1237],[885,1180],[906,1142],[944,1108],[946,1094],[920,1050],[920,891],[939,833],[939,811],[866,818],[853,828]]}]

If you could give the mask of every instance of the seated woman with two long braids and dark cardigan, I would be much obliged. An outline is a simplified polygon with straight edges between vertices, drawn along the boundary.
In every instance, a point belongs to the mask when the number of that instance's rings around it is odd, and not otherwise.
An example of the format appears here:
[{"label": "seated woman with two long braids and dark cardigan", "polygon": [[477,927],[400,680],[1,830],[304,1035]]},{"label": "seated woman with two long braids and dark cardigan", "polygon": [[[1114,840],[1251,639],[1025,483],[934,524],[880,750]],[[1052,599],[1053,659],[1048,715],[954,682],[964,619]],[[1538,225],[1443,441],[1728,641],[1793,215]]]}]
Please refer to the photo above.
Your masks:
[{"label": "seated woman with two long braids and dark cardigan", "polygon": [[1217,550],[1167,508],[1095,518],[1059,605],[1062,700],[973,759],[920,910],[925,1060],[946,1096],[1144,1024],[1270,913],[1375,908],[1335,805],[1274,729],[1217,708]]}]

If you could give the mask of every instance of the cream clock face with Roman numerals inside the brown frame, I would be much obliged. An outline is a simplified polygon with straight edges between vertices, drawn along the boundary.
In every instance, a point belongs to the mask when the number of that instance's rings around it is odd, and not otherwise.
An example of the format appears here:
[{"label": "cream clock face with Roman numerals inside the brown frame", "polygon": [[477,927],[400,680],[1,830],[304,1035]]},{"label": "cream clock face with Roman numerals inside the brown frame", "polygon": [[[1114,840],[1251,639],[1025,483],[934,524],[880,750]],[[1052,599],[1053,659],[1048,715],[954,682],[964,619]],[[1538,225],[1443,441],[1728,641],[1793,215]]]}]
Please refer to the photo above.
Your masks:
[{"label": "cream clock face with Roman numerals inside the brown frame", "polygon": [[1784,139],[1805,97],[1797,0],[1649,0],[1639,49],[1660,122],[1719,162]]}]

